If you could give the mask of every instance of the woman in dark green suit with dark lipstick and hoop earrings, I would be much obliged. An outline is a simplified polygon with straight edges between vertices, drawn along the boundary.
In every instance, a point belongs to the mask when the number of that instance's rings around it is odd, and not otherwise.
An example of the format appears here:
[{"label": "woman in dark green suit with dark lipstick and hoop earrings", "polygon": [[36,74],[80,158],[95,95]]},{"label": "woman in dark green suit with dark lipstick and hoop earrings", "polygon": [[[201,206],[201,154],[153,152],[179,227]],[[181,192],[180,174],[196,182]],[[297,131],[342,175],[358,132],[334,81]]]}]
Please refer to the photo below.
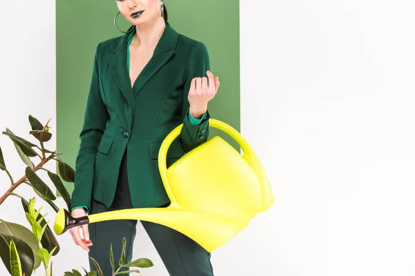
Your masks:
[{"label": "woman in dark green suit with dark lipstick and hoop earrings", "polygon": [[[167,166],[205,142],[208,101],[219,88],[205,45],[169,25],[163,0],[116,3],[133,26],[123,36],[99,43],[95,52],[75,165],[73,217],[168,206],[157,164],[161,142],[183,123],[167,153]],[[131,261],[136,223],[102,221],[69,232],[107,276],[112,275],[110,245],[119,259],[122,237],[127,239],[126,262]],[[170,275],[213,275],[210,254],[192,239],[159,224],[142,225]],[[91,261],[90,266],[94,269]]]}]

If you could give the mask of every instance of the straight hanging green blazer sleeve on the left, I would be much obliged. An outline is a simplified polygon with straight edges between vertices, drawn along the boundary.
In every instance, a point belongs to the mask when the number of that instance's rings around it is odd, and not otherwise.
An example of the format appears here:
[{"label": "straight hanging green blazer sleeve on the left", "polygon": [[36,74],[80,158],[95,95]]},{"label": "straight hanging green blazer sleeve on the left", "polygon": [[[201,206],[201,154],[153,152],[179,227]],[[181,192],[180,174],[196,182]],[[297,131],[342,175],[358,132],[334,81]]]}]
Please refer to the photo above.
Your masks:
[{"label": "straight hanging green blazer sleeve on the left", "polygon": [[84,124],[80,132],[80,148],[75,161],[75,188],[71,197],[71,209],[84,206],[87,207],[86,212],[91,208],[95,157],[109,119],[108,110],[100,93],[98,68],[100,44],[95,50],[91,86],[86,101]]}]

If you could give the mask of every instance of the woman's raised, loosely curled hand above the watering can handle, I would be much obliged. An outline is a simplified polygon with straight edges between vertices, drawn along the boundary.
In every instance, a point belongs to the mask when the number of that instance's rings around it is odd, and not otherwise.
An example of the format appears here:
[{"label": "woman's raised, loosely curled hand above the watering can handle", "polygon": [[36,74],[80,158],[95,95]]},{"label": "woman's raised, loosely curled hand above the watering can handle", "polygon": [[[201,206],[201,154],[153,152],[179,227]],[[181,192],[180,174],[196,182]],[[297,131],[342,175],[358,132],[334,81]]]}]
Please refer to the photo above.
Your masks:
[{"label": "woman's raised, loosely curled hand above the watering can handle", "polygon": [[208,102],[216,95],[220,85],[219,77],[214,77],[210,71],[206,71],[206,75],[208,77],[195,77],[190,83],[187,97],[190,103],[189,112],[196,119],[199,119],[208,110]]}]

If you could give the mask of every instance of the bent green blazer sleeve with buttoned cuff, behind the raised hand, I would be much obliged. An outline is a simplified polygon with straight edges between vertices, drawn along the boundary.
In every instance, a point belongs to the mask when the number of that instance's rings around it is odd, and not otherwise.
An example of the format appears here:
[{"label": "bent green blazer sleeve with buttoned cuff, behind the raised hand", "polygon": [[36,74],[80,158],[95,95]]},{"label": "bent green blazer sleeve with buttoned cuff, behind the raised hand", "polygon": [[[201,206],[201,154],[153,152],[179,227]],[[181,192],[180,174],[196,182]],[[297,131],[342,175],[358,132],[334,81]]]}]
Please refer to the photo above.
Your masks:
[{"label": "bent green blazer sleeve with buttoned cuff, behind the raised hand", "polygon": [[209,112],[206,112],[203,115],[200,122],[197,121],[198,124],[194,124],[194,121],[190,121],[190,103],[187,99],[192,79],[194,77],[206,77],[207,70],[210,70],[208,49],[204,43],[196,41],[190,50],[184,73],[185,85],[183,87],[182,108],[183,128],[181,130],[180,139],[185,152],[193,150],[208,140],[210,119]]}]

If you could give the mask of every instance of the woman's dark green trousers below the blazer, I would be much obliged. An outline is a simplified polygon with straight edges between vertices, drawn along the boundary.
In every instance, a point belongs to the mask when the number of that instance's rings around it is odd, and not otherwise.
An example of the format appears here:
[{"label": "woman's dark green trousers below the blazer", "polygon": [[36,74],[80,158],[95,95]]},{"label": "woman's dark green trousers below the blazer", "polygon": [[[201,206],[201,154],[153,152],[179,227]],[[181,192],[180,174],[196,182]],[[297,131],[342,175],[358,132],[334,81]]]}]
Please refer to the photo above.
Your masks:
[{"label": "woman's dark green trousers below the blazer", "polygon": [[[110,208],[107,208],[107,206],[93,200],[90,214],[133,208],[127,180],[127,159],[125,157],[126,155],[124,155],[120,166],[120,177],[113,204],[111,204]],[[199,244],[166,226],[149,221],[140,222],[147,231],[170,276],[213,276],[210,253],[199,246]],[[111,243],[116,270],[118,269],[118,260],[122,252],[123,237],[126,239],[125,263],[132,261],[136,224],[136,220],[101,221],[89,224],[89,235],[93,242],[93,245],[89,247],[89,257],[93,257],[98,262],[104,276],[112,275],[111,263],[109,262]],[[95,270],[91,259],[89,260],[89,265],[91,270]],[[142,269],[146,268],[138,268],[138,270]],[[129,275],[129,273],[123,275]]]}]

